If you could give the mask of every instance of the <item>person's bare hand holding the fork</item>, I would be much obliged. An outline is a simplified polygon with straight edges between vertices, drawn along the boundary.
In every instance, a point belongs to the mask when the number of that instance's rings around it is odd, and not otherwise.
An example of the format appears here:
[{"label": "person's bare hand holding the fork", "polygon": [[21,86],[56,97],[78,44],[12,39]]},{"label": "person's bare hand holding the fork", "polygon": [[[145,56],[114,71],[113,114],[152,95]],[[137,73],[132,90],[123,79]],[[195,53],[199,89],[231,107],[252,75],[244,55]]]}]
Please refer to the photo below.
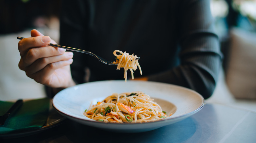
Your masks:
[{"label": "person's bare hand holding the fork", "polygon": [[30,38],[19,41],[19,68],[28,77],[49,87],[66,88],[75,85],[70,71],[73,53],[48,46],[49,43],[56,44],[49,36],[32,30]]}]

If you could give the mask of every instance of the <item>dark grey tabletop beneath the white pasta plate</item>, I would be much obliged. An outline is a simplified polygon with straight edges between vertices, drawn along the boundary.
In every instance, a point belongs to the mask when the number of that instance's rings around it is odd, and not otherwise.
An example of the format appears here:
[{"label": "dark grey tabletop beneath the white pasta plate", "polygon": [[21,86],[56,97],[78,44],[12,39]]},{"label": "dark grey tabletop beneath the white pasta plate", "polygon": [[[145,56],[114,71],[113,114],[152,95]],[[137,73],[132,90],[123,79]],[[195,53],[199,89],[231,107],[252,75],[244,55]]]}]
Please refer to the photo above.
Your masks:
[{"label": "dark grey tabletop beneath the white pasta plate", "polygon": [[256,113],[221,104],[205,104],[198,113],[177,123],[143,133],[112,133],[66,119],[62,124],[35,135],[2,138],[2,142],[80,143],[253,143]]}]

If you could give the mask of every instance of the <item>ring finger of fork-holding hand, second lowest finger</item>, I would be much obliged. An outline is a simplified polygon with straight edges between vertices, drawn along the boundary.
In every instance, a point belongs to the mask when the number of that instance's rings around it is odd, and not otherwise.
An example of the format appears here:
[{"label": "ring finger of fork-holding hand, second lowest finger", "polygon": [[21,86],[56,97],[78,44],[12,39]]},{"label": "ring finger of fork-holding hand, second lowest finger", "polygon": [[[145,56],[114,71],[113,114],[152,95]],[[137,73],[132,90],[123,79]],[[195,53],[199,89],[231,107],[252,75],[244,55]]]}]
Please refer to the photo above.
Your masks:
[{"label": "ring finger of fork-holding hand, second lowest finger", "polygon": [[37,59],[35,62],[33,62],[30,66],[26,68],[26,74],[27,75],[34,74],[42,70],[43,68],[45,68],[48,64],[59,62],[59,61],[70,60],[72,58],[73,58],[72,52],[65,52],[62,55]]}]

